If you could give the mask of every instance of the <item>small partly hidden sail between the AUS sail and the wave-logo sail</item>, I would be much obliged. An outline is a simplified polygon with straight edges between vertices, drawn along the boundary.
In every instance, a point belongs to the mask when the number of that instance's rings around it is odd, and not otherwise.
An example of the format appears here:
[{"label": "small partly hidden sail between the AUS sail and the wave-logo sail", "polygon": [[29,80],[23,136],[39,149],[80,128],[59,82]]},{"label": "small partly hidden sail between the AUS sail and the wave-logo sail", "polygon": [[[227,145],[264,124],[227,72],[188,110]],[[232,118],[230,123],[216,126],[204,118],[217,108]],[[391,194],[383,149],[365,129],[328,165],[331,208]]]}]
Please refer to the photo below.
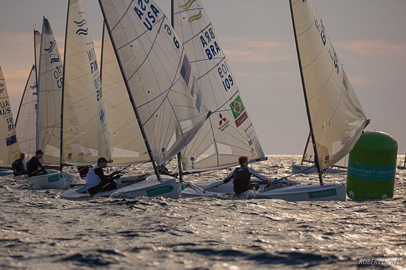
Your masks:
[{"label": "small partly hidden sail between the AUS sail and the wave-logo sail", "polygon": [[17,141],[20,151],[29,160],[35,156],[37,135],[37,79],[35,65],[32,65],[21,97],[16,118]]}]

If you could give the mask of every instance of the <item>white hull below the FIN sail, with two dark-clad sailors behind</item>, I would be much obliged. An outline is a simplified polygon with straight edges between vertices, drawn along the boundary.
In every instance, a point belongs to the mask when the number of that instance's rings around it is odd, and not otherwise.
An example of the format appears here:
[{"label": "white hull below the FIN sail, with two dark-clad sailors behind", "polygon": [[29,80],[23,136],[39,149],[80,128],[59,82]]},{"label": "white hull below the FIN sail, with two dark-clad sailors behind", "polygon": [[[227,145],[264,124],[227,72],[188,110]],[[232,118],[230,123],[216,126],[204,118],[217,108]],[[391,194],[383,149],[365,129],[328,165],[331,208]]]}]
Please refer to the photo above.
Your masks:
[{"label": "white hull below the FIN sail, with two dark-clad sailors behind", "polygon": [[65,172],[57,172],[28,178],[28,184],[33,189],[69,189],[78,177]]}]

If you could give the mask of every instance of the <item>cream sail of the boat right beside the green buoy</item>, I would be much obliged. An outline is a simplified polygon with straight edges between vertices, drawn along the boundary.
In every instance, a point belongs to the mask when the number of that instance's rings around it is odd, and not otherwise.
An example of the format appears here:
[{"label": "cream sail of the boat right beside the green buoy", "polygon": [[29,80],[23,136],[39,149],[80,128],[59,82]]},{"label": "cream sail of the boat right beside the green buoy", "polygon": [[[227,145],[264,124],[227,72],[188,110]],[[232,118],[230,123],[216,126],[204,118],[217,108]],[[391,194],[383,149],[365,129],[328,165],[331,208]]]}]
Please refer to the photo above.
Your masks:
[{"label": "cream sail of the boat right beside the green buoy", "polygon": [[313,0],[291,0],[305,97],[320,169],[351,151],[368,123]]}]

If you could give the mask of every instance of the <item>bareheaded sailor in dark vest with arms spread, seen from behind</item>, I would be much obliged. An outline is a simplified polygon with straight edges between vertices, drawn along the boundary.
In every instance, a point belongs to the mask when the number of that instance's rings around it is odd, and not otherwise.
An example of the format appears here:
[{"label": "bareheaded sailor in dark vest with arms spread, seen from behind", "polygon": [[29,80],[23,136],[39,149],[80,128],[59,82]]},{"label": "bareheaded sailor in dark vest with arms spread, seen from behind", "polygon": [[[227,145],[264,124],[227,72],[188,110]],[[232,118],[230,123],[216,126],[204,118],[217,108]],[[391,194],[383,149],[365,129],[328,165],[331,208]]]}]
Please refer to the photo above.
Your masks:
[{"label": "bareheaded sailor in dark vest with arms spread, seen from behind", "polygon": [[[259,184],[269,184],[269,180],[265,177],[254,171],[254,169],[248,167],[248,157],[242,156],[238,159],[241,167],[235,168],[235,170],[230,173],[223,182],[228,183],[234,179],[234,192],[235,194],[244,193],[250,189],[258,190]],[[260,182],[251,182],[251,175],[262,180]]]}]

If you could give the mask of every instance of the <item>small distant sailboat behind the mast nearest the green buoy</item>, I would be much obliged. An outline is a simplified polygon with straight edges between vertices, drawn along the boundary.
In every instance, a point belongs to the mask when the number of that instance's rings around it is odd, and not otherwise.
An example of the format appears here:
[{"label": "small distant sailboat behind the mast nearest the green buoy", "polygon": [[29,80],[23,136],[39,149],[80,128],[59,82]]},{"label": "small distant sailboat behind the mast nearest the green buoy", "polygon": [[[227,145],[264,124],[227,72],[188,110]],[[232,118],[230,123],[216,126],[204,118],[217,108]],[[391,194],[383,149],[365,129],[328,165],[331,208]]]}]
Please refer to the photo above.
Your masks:
[{"label": "small distant sailboat behind the mast nearest the green buoy", "polygon": [[[335,163],[334,166],[328,168],[328,173],[346,173],[348,155]],[[304,164],[303,164],[304,163]],[[303,156],[300,164],[292,164],[292,173],[314,173],[317,172],[317,168],[314,165],[314,151],[313,151],[313,142],[311,134],[309,133],[308,140],[306,141],[306,146],[304,147]]]}]

